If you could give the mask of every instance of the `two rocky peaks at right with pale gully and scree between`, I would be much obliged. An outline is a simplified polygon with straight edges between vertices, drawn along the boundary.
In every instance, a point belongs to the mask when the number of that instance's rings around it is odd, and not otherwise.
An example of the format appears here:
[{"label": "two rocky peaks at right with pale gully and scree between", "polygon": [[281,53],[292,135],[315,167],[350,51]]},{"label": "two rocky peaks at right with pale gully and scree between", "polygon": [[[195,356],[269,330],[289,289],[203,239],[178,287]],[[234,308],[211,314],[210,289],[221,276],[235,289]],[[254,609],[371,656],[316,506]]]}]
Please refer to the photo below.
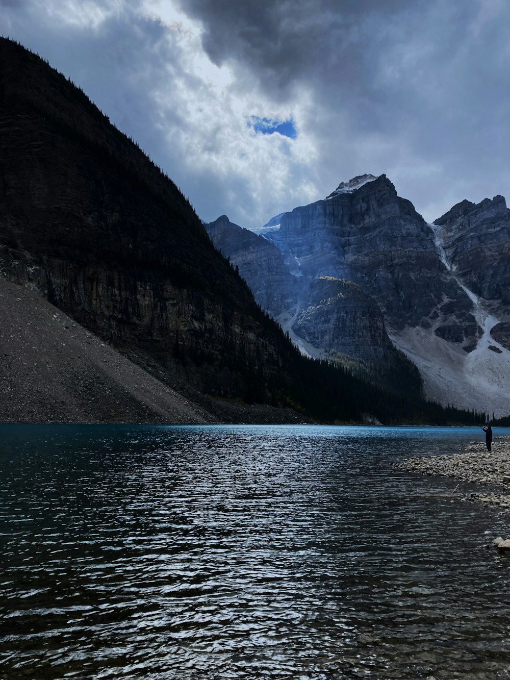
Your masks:
[{"label": "two rocky peaks at right with pale gully and scree between", "polygon": [[[290,284],[296,305],[282,311],[269,294],[267,309],[311,356],[406,390],[415,388],[411,360],[428,397],[507,413],[509,220],[494,197],[462,201],[428,224],[386,175],[354,177],[256,230],[299,282]],[[222,250],[245,275],[239,251]],[[253,262],[245,277],[263,288]]]}]

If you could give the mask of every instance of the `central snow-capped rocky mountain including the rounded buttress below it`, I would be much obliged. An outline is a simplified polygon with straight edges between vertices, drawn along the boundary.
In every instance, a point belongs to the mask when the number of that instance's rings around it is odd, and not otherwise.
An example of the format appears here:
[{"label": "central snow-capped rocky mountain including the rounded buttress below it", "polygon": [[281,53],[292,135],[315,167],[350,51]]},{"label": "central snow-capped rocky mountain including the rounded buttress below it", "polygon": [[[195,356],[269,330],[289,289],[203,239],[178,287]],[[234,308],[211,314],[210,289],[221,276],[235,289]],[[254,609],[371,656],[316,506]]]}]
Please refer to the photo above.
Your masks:
[{"label": "central snow-capped rocky mountain including the rounded buttress below it", "polygon": [[[211,237],[245,275],[239,234],[231,230],[221,245],[216,233]],[[465,343],[477,333],[471,301],[439,259],[432,229],[398,197],[386,175],[342,182],[326,199],[270,220],[262,235],[282,254],[292,279],[280,275],[278,305],[260,259],[257,267],[252,257],[247,281],[256,299],[313,356],[401,376],[409,362],[387,329],[396,334],[422,326]],[[339,291],[324,299],[328,281],[337,282],[328,286]],[[281,301],[292,294],[297,305],[285,308]]]}]

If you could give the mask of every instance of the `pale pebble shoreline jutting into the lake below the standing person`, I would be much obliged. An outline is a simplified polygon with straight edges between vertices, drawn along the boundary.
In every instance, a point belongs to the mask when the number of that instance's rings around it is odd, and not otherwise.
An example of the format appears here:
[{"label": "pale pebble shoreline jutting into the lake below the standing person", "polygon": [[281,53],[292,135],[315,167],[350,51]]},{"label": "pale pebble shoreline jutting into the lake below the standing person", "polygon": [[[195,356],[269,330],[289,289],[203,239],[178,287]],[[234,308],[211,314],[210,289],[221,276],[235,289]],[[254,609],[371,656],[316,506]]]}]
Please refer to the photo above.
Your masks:
[{"label": "pale pebble shoreline jutting into the lake below the standing person", "polygon": [[[483,433],[481,433],[483,437]],[[498,487],[483,493],[459,494],[460,498],[486,505],[510,508],[510,437],[496,437],[489,453],[485,443],[472,441],[462,445],[458,454],[415,456],[397,465],[407,472],[452,477],[459,481]]]}]

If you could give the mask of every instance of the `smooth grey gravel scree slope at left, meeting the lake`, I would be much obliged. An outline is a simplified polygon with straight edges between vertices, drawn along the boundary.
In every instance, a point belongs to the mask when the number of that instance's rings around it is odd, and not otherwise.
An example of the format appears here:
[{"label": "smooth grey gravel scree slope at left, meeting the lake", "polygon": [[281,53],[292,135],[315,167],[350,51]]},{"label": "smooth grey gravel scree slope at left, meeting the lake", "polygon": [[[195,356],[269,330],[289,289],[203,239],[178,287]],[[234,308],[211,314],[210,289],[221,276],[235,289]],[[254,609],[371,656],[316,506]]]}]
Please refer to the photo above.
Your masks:
[{"label": "smooth grey gravel scree slope at left, meeting the lake", "polygon": [[35,290],[0,279],[0,422],[192,424],[218,418]]}]

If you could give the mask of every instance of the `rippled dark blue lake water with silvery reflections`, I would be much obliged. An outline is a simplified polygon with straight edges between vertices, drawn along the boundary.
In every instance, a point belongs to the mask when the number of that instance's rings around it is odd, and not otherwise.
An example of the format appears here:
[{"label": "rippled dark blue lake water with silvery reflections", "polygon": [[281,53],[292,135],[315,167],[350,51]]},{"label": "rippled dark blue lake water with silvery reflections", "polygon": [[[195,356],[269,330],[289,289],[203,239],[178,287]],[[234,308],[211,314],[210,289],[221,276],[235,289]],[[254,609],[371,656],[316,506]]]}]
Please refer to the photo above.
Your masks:
[{"label": "rippled dark blue lake water with silvery reflections", "polygon": [[474,439],[0,426],[0,677],[510,677],[510,515],[393,467]]}]

